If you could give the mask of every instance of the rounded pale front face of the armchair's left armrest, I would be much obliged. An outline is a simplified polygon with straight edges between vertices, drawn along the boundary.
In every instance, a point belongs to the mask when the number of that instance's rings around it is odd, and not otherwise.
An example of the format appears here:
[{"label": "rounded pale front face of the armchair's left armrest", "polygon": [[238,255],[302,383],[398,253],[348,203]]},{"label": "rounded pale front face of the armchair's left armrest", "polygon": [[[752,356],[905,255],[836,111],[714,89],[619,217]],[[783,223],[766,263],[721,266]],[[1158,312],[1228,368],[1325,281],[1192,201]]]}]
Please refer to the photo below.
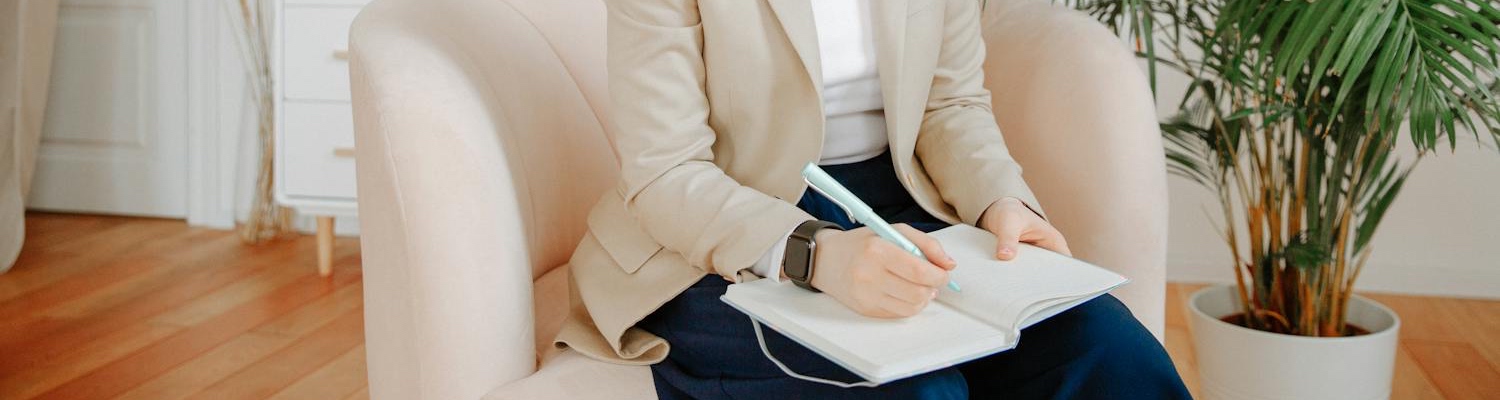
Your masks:
[{"label": "rounded pale front face of the armchair's left armrest", "polygon": [[480,399],[536,370],[530,246],[506,126],[412,3],[351,33],[370,396]]}]

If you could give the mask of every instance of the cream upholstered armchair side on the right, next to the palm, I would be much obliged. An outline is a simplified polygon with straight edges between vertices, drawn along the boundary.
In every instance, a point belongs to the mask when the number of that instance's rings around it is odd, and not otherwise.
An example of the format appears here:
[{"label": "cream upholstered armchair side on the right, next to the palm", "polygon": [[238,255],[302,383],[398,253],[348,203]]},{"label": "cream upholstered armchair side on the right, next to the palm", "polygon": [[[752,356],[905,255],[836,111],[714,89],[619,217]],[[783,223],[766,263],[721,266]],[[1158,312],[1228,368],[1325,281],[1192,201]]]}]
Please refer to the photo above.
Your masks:
[{"label": "cream upholstered armchair side on the right, next to the palm", "polygon": [[1167,169],[1134,54],[1048,1],[990,1],[982,24],[986,87],[1028,183],[1074,256],[1132,280],[1113,294],[1161,339]]}]

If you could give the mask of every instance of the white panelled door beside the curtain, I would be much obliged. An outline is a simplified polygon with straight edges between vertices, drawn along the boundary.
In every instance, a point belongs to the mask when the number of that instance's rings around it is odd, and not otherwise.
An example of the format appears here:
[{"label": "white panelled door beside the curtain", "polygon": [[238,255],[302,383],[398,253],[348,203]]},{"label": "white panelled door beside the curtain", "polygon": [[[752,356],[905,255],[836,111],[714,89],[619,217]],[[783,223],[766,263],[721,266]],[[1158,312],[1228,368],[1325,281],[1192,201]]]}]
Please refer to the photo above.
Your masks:
[{"label": "white panelled door beside the curtain", "polygon": [[184,1],[62,1],[28,208],[188,214]]}]

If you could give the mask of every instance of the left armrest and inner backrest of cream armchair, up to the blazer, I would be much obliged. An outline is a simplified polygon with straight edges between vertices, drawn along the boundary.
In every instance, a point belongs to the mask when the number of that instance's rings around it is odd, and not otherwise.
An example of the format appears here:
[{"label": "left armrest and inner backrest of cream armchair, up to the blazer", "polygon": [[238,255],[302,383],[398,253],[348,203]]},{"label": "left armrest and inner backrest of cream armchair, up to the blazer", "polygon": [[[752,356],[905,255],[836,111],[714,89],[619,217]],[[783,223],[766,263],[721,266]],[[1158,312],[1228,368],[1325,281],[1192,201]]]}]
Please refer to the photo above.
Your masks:
[{"label": "left armrest and inner backrest of cream armchair, up to the blazer", "polygon": [[480,399],[536,372],[567,309],[558,268],[618,178],[591,106],[603,33],[596,0],[376,0],[354,21],[374,399]]}]

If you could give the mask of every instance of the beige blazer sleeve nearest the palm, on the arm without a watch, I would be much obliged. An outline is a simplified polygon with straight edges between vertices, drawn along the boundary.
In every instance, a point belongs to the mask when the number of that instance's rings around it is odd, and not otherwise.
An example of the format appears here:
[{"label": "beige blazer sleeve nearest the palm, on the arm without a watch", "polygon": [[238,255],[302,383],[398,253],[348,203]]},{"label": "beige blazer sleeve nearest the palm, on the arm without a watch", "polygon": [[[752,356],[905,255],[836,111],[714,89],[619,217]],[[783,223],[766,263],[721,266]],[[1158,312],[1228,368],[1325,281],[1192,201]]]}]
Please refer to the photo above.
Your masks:
[{"label": "beige blazer sleeve nearest the palm, on the arm without a watch", "polygon": [[916,157],[964,223],[978,223],[980,214],[1002,198],[1017,198],[1042,216],[994,123],[990,91],[984,88],[984,51],[980,1],[946,0]]}]

